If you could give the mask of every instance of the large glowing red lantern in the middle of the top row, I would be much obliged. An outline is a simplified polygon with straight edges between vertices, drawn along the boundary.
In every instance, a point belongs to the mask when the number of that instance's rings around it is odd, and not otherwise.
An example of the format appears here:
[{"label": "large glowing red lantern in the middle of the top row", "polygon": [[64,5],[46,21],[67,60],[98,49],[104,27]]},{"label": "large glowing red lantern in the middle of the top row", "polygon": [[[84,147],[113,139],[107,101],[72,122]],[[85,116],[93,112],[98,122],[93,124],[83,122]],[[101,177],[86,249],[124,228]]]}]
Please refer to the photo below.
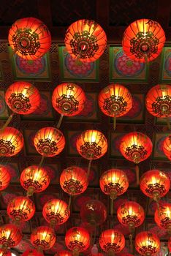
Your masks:
[{"label": "large glowing red lantern in the middle of the top row", "polygon": [[104,53],[107,37],[96,21],[77,20],[66,31],[65,45],[73,59],[92,62]]}]

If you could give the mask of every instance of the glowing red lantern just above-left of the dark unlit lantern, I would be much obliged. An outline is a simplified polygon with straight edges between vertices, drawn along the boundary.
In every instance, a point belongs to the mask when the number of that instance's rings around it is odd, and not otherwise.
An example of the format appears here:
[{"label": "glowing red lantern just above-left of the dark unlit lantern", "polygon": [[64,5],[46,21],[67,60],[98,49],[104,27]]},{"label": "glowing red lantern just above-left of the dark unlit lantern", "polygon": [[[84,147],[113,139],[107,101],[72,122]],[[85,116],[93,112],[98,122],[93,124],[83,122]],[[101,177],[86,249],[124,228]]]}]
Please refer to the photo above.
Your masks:
[{"label": "glowing red lantern just above-left of the dark unlit lantern", "polygon": [[61,173],[60,185],[69,195],[80,195],[88,187],[87,173],[77,166],[68,167]]}]

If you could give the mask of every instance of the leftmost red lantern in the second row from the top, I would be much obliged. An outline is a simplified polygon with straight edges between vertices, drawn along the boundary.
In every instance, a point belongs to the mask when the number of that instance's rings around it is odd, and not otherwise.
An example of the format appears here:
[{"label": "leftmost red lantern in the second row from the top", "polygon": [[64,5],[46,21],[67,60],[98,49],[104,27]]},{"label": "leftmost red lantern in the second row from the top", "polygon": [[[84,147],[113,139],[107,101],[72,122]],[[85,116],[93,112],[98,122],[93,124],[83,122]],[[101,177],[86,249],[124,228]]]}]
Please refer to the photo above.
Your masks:
[{"label": "leftmost red lantern in the second row from the top", "polygon": [[13,112],[28,115],[39,107],[40,94],[31,83],[15,82],[8,87],[5,101]]}]

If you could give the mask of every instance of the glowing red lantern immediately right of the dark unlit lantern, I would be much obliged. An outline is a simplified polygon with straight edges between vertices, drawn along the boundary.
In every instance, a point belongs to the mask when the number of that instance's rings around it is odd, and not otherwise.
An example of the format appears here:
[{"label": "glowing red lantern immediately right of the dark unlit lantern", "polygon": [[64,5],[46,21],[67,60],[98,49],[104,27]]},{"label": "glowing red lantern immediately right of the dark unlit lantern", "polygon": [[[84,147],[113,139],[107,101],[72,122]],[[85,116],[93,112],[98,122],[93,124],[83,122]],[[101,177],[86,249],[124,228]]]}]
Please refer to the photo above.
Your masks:
[{"label": "glowing red lantern immediately right of the dark unlit lantern", "polygon": [[139,227],[145,219],[144,209],[139,203],[128,201],[119,206],[117,211],[118,221],[129,227],[129,230],[134,230],[134,227]]}]

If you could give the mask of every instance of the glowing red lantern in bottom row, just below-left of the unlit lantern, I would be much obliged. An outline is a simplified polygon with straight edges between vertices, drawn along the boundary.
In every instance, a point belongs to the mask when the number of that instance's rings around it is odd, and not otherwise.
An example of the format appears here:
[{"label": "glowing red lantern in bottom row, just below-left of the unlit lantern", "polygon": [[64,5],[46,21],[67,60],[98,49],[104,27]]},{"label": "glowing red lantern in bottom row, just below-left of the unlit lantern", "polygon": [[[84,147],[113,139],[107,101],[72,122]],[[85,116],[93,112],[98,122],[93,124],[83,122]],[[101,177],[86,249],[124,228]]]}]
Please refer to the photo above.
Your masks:
[{"label": "glowing red lantern in bottom row, just below-left of the unlit lantern", "polygon": [[65,244],[73,255],[78,255],[90,246],[90,235],[83,227],[72,227],[66,231]]}]

